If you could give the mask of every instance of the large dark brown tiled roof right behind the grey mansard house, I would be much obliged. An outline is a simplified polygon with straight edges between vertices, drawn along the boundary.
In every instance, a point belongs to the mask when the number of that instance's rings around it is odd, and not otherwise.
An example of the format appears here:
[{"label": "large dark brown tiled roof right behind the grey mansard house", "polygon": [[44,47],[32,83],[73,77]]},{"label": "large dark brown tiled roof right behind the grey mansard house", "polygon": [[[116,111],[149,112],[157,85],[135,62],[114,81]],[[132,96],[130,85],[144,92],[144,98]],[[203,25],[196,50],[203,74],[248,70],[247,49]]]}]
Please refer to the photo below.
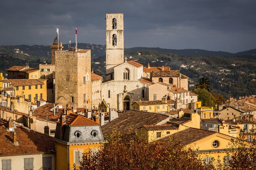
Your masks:
[{"label": "large dark brown tiled roof right behind the grey mansard house", "polygon": [[113,121],[101,126],[103,136],[111,135],[112,131],[119,131],[121,134],[132,133],[144,125],[156,125],[157,123],[168,119],[162,114],[129,110],[124,112]]}]

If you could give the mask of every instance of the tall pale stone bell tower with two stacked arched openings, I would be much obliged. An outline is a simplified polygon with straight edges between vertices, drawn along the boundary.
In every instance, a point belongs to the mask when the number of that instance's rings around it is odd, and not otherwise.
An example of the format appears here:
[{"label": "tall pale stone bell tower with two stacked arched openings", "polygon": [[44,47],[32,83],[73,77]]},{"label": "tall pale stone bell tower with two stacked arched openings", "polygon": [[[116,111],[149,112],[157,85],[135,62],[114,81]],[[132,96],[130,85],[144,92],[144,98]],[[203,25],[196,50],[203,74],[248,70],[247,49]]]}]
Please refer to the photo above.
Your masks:
[{"label": "tall pale stone bell tower with two stacked arched openings", "polygon": [[106,80],[114,79],[114,67],[124,63],[124,14],[106,14]]}]

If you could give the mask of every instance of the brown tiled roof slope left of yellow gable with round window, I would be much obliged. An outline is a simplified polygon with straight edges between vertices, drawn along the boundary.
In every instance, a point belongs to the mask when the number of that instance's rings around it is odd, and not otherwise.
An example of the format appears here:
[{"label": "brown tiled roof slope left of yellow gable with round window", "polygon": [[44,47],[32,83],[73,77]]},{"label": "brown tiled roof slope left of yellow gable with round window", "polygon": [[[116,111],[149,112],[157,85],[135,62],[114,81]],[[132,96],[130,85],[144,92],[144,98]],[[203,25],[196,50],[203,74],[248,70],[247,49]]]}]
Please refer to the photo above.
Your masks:
[{"label": "brown tiled roof slope left of yellow gable with round window", "polygon": [[158,141],[163,143],[169,143],[171,140],[172,143],[188,145],[198,140],[201,140],[207,136],[213,135],[214,133],[217,132],[189,127],[179,132],[173,133],[169,136],[166,136],[164,138],[161,138]]}]

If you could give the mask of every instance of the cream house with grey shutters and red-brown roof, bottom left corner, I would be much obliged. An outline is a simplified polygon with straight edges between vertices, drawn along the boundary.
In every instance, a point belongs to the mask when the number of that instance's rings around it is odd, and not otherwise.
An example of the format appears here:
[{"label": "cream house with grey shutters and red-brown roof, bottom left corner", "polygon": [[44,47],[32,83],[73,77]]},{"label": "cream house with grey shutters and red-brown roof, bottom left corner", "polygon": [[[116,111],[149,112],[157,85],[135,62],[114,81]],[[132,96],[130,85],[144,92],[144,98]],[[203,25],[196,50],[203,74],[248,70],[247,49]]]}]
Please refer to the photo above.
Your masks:
[{"label": "cream house with grey shutters and red-brown roof, bottom left corner", "polygon": [[3,170],[55,169],[54,140],[42,133],[0,120],[0,167]]}]

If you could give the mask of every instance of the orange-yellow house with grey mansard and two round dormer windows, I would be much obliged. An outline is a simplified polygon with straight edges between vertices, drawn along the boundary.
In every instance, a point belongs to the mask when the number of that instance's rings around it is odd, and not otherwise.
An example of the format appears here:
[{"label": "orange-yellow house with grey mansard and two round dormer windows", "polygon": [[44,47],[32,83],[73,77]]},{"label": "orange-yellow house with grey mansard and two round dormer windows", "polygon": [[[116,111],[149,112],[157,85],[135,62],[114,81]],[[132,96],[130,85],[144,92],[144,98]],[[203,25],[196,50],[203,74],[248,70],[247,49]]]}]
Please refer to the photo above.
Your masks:
[{"label": "orange-yellow house with grey mansard and two round dormer windows", "polygon": [[99,123],[73,113],[60,115],[54,139],[58,170],[79,168],[83,153],[98,152],[104,142]]}]

